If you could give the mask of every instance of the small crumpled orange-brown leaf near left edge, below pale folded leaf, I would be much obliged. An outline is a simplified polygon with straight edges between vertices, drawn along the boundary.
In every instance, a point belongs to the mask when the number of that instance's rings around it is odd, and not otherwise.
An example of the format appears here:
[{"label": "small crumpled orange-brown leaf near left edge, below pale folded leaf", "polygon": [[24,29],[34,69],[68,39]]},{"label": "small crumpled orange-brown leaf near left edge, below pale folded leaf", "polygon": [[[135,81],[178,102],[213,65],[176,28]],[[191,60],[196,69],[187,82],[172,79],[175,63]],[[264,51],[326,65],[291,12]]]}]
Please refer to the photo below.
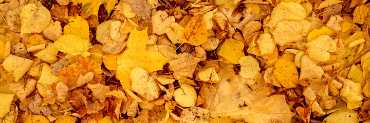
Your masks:
[{"label": "small crumpled orange-brown leaf near left edge, below pale folded leaf", "polygon": [[9,90],[23,101],[35,89],[36,83],[37,81],[34,79],[28,79],[26,83],[11,83]]}]

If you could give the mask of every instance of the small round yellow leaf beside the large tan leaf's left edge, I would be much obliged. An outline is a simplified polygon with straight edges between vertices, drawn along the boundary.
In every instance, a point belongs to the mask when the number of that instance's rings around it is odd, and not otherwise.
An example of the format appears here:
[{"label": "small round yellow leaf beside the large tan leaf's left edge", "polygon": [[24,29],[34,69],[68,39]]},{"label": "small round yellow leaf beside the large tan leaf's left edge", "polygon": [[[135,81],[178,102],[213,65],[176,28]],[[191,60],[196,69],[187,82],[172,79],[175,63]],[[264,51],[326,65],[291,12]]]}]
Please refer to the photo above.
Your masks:
[{"label": "small round yellow leaf beside the large tan leaf's left edge", "polygon": [[197,99],[197,94],[192,86],[182,84],[181,88],[175,90],[174,98],[182,107],[193,107]]}]

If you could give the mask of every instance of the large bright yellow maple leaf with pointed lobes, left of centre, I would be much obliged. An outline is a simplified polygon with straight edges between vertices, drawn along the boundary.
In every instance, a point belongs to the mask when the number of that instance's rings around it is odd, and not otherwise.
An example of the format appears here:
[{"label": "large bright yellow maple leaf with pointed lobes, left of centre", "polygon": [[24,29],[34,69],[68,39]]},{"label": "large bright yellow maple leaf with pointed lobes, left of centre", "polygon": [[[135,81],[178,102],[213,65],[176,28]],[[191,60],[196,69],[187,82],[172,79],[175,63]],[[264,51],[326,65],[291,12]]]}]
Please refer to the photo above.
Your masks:
[{"label": "large bright yellow maple leaf with pointed lobes, left of centre", "polygon": [[131,31],[127,39],[127,48],[123,51],[121,59],[118,59],[117,78],[120,79],[123,88],[131,89],[130,73],[137,67],[147,72],[162,70],[164,63],[169,60],[159,52],[145,50],[149,36],[146,30],[138,31],[136,28]]}]

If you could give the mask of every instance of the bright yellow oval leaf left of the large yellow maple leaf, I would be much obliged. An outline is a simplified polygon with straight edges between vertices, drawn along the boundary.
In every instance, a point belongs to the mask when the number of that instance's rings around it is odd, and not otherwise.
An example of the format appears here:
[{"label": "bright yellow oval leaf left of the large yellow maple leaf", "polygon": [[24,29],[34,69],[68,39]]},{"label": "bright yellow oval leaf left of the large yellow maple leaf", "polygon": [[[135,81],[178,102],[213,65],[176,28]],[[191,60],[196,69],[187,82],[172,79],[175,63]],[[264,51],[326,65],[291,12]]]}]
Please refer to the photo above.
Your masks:
[{"label": "bright yellow oval leaf left of the large yellow maple leaf", "polygon": [[67,34],[62,35],[55,40],[54,46],[61,52],[70,55],[82,55],[86,57],[90,55],[87,50],[91,47],[91,43],[89,40],[81,38],[78,35]]}]

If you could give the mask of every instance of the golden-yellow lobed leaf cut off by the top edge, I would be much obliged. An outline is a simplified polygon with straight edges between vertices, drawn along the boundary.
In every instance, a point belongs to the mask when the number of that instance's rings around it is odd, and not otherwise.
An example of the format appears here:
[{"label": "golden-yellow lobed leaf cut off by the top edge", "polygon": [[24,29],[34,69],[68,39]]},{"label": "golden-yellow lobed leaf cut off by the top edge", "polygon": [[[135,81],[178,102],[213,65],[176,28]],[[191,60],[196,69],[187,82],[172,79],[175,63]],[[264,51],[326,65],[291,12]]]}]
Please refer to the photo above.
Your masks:
[{"label": "golden-yellow lobed leaf cut off by the top edge", "polygon": [[[77,2],[78,3],[78,2]],[[104,4],[105,9],[108,13],[113,10],[114,6],[118,3],[117,0],[92,0],[83,1],[81,6],[81,16],[87,18],[90,15],[95,15],[98,17],[99,7]],[[76,3],[73,3],[76,4]]]}]

